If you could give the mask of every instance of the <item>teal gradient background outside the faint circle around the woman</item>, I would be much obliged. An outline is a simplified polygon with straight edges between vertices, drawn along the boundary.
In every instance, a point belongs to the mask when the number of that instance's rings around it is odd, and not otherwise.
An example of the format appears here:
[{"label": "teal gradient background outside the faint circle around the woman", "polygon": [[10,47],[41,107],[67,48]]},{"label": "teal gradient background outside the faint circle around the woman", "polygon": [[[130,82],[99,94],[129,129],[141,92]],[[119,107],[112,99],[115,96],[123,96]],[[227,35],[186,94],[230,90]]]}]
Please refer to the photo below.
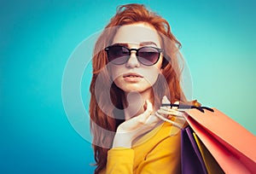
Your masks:
[{"label": "teal gradient background outside the faint circle around the woman", "polygon": [[73,49],[123,3],[144,3],[166,18],[183,44],[193,97],[255,135],[255,1],[3,0],[1,173],[93,172],[90,142],[73,130],[63,109],[62,73]]}]

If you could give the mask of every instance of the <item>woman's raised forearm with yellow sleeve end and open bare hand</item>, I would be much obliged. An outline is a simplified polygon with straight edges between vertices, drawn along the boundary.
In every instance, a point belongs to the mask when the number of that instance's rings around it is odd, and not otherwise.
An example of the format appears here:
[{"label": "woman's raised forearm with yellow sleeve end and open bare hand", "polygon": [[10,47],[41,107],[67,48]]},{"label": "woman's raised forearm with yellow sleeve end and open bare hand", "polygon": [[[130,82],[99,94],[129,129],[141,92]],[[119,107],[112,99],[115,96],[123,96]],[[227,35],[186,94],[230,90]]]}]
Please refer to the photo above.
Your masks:
[{"label": "woman's raised forearm with yellow sleeve end and open bare hand", "polygon": [[152,129],[156,121],[159,121],[156,117],[154,121],[148,121],[152,110],[152,104],[147,101],[147,109],[144,113],[119,125],[113,138],[113,146],[108,150],[106,173],[133,173],[134,150],[131,148],[131,143],[137,136]]}]

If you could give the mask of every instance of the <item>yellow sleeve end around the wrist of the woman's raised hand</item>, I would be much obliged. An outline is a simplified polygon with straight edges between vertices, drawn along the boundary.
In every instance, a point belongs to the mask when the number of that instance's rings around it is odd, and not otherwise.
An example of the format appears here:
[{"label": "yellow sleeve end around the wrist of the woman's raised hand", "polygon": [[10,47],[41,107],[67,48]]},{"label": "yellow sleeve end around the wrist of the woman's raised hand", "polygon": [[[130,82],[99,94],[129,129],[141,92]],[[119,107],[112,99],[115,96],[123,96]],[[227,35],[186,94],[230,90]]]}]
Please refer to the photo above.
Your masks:
[{"label": "yellow sleeve end around the wrist of the woman's raised hand", "polygon": [[134,150],[131,148],[112,148],[108,150],[106,173],[133,173]]}]

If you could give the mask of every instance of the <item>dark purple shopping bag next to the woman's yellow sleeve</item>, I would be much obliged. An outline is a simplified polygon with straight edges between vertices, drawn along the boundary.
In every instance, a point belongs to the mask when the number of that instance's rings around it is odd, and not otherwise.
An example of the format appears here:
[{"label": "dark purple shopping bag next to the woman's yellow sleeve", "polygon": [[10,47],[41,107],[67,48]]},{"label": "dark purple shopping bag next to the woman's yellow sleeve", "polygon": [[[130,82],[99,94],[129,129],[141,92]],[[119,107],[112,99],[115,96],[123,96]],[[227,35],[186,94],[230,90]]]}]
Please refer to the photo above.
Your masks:
[{"label": "dark purple shopping bag next to the woman's yellow sleeve", "polygon": [[181,165],[183,174],[207,174],[207,169],[189,126],[181,131]]}]

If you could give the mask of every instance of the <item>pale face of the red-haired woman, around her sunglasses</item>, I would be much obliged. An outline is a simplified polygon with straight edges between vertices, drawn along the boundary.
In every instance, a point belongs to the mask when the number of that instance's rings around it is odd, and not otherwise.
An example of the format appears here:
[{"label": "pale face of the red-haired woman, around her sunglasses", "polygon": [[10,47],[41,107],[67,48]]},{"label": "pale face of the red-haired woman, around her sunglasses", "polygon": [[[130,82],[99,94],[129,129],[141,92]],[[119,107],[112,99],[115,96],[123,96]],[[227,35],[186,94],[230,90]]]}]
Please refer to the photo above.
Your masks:
[{"label": "pale face of the red-haired woman, around her sunglasses", "polygon": [[[124,45],[128,49],[139,49],[144,46],[160,47],[158,33],[153,26],[146,23],[136,23],[120,26],[113,38],[113,44]],[[114,84],[126,93],[131,91],[144,92],[150,90],[160,73],[163,56],[152,66],[145,66],[137,60],[136,51],[131,50],[131,55],[124,64],[110,63],[110,73]]]}]

